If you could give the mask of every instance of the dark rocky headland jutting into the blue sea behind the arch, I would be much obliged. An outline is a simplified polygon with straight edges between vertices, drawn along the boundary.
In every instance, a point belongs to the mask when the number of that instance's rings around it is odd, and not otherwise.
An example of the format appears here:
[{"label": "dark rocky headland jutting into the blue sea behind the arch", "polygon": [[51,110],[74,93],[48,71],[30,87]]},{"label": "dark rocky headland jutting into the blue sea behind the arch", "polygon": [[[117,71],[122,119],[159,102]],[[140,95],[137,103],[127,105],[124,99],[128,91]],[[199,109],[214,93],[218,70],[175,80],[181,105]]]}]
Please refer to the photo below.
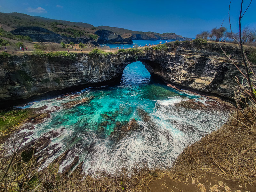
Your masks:
[{"label": "dark rocky headland jutting into the blue sea behind the arch", "polygon": [[118,35],[112,31],[100,29],[95,31],[94,34],[98,35],[99,44],[132,44],[132,34],[131,33],[124,33],[122,36]]}]

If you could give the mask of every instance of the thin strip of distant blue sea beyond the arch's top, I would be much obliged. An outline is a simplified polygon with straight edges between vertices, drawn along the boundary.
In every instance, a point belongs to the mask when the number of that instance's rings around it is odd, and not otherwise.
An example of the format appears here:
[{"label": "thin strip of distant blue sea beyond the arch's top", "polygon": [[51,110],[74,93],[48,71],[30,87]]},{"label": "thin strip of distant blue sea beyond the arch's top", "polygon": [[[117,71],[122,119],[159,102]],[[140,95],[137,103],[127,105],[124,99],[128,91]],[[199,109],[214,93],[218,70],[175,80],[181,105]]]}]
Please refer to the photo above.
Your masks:
[{"label": "thin strip of distant blue sea beyond the arch's top", "polygon": [[165,41],[167,41],[167,43],[173,41],[173,40],[132,40],[133,41],[133,44],[103,44],[104,45],[107,45],[109,46],[111,49],[114,48],[116,49],[116,47],[121,47],[121,49],[127,49],[127,48],[133,48],[133,46],[135,47],[135,45],[138,45],[138,46],[145,46],[146,44],[159,44],[160,41],[162,41],[162,44],[164,44]]}]

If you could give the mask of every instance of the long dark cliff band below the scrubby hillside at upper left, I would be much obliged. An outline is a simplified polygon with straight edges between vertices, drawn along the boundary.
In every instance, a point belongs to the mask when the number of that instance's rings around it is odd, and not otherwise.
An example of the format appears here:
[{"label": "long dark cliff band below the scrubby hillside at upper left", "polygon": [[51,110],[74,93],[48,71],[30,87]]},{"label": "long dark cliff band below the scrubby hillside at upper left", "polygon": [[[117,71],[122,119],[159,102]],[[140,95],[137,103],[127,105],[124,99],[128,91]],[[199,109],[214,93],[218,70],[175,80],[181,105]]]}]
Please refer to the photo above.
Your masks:
[{"label": "long dark cliff band below the scrubby hillside at upper left", "polygon": [[92,40],[90,37],[87,37],[87,36],[78,37],[78,38],[66,37],[41,27],[21,27],[21,28],[12,30],[11,33],[14,35],[29,36],[35,42],[53,42],[53,43],[63,42],[63,43],[69,44],[69,42],[72,41],[75,44],[79,44],[80,42],[87,44],[90,42],[96,46],[99,45],[94,40]]}]

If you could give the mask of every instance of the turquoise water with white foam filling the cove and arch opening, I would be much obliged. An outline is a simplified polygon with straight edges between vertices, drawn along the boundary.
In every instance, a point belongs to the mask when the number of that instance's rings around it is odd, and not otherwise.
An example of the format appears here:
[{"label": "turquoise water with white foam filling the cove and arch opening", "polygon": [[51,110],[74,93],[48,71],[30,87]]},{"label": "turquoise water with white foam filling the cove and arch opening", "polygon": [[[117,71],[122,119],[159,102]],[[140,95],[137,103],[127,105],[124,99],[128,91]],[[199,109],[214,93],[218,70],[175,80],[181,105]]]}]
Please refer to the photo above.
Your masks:
[{"label": "turquoise water with white foam filling the cove and arch opening", "polygon": [[[70,156],[61,169],[73,160],[72,154],[84,161],[85,171],[98,169],[100,165],[100,168],[108,171],[117,165],[128,168],[136,162],[148,162],[149,166],[171,166],[186,146],[199,140],[205,133],[216,130],[228,117],[225,110],[196,110],[177,106],[189,99],[204,103],[206,98],[167,87],[153,79],[141,62],[129,64],[116,84],[91,87],[72,94],[78,94],[78,97],[71,99],[69,95],[63,100],[51,98],[21,107],[61,107],[51,113],[51,118],[46,122],[37,124],[32,135],[38,138],[50,130],[65,128],[51,143],[59,143],[61,150],[46,162],[51,162],[70,148]],[[61,104],[88,97],[93,97],[89,103],[71,108],[64,108]],[[141,109],[150,117],[149,121],[144,121],[140,116]],[[111,119],[106,120],[101,114],[107,114]],[[120,140],[110,136],[118,121],[130,121],[132,118],[140,125],[139,130],[128,133]],[[104,121],[107,121],[107,126],[103,132],[97,131],[99,124]]]}]

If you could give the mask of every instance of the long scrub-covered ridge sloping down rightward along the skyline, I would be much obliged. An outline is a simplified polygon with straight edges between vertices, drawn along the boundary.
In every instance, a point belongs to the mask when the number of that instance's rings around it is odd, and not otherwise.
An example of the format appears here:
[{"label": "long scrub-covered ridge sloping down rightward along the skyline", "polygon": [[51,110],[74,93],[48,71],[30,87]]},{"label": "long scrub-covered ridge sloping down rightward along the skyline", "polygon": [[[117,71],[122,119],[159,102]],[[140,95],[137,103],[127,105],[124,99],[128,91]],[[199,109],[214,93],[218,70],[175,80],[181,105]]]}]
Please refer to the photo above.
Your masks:
[{"label": "long scrub-covered ridge sloping down rightward along the skyline", "polygon": [[98,26],[94,27],[88,23],[71,22],[65,20],[54,20],[39,16],[29,16],[23,13],[0,13],[0,27],[6,31],[12,31],[21,27],[41,27],[53,31],[54,33],[68,37],[81,37],[90,36],[93,38],[94,32],[98,29],[105,29],[123,35],[124,33],[132,33],[133,39],[145,39],[145,40],[157,40],[157,39],[169,39],[169,40],[191,40],[190,38],[176,35],[175,33],[155,33],[155,32],[142,32],[132,31],[129,29]]}]

